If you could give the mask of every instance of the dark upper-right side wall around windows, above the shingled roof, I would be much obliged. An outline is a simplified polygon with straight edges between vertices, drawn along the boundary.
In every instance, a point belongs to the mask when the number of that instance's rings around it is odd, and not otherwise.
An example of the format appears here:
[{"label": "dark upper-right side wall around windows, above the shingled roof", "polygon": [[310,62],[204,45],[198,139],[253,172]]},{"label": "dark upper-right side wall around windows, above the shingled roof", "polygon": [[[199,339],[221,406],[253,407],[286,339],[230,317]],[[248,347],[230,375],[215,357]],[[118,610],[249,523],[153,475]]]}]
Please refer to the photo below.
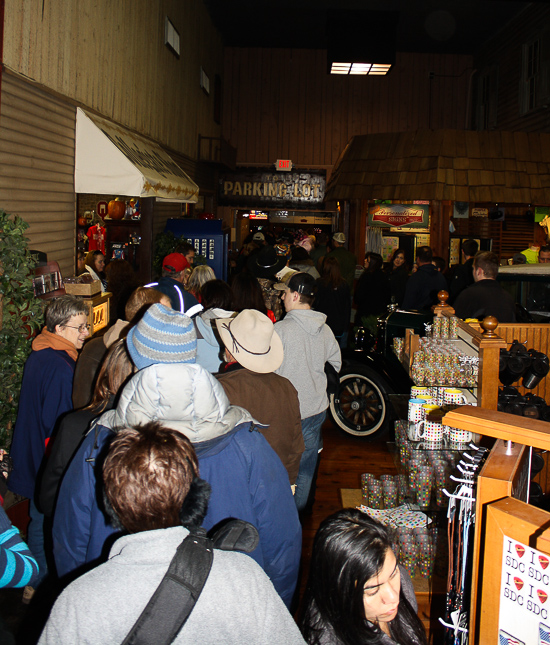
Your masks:
[{"label": "dark upper-right side wall around windows, above the shingled roof", "polygon": [[[521,114],[520,81],[522,74],[522,47],[533,36],[542,38],[541,62],[545,61],[546,83],[550,84],[550,6],[543,2],[531,3],[517,18],[493,39],[483,43],[474,58],[479,74],[493,69],[496,83],[495,115],[489,127],[496,130],[550,131],[550,108],[540,106]],[[550,87],[546,87],[546,92]],[[476,83],[474,99],[479,102]],[[546,103],[546,102],[545,102]],[[474,125],[482,129],[474,120]]]}]

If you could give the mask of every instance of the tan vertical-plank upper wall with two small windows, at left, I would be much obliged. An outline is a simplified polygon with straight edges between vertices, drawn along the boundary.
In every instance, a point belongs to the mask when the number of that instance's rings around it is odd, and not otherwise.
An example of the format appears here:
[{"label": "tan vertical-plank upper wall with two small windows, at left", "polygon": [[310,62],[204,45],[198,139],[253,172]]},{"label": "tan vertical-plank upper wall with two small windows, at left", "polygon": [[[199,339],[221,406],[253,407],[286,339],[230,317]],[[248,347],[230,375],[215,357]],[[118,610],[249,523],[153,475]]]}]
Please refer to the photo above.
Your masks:
[{"label": "tan vertical-plank upper wall with two small windows, at left", "polygon": [[[180,34],[179,60],[164,45],[165,16]],[[201,0],[5,0],[3,56],[15,73],[193,159],[198,134],[220,134],[223,46]]]}]

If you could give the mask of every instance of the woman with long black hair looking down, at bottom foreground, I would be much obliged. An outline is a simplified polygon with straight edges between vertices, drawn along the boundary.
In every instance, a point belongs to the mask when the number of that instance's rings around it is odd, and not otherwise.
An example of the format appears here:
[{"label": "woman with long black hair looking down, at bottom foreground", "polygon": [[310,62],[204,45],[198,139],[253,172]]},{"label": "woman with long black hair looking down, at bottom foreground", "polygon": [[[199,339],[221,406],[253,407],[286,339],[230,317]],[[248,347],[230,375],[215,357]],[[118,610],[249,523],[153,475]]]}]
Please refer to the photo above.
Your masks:
[{"label": "woman with long black hair looking down, at bottom foreground", "polygon": [[300,620],[307,643],[427,645],[416,611],[386,527],[352,508],[321,523]]}]

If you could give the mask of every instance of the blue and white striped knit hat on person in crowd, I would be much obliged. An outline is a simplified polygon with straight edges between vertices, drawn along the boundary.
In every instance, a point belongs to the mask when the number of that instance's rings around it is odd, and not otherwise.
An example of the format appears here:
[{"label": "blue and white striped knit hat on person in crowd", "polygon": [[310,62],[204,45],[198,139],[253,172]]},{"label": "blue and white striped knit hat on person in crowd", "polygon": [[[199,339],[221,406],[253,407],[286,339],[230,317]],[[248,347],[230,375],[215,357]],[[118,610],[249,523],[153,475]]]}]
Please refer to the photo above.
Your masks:
[{"label": "blue and white striped knit hat on person in crowd", "polygon": [[194,363],[197,356],[195,325],[188,316],[154,304],[126,338],[138,370],[157,363]]}]

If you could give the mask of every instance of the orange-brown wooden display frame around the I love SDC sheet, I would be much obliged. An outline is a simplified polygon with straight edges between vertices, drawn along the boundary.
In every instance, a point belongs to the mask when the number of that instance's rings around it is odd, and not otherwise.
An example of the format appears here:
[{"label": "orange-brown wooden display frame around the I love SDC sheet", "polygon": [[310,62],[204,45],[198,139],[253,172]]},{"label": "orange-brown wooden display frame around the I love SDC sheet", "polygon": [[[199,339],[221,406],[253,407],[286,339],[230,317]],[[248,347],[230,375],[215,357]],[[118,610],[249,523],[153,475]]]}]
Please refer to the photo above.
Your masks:
[{"label": "orange-brown wooden display frame around the I love SDC sheet", "polygon": [[550,513],[522,501],[530,475],[526,446],[550,449],[550,424],[471,406],[449,412],[443,422],[499,440],[477,483],[469,626],[470,643],[497,643],[502,536],[550,553]]}]

